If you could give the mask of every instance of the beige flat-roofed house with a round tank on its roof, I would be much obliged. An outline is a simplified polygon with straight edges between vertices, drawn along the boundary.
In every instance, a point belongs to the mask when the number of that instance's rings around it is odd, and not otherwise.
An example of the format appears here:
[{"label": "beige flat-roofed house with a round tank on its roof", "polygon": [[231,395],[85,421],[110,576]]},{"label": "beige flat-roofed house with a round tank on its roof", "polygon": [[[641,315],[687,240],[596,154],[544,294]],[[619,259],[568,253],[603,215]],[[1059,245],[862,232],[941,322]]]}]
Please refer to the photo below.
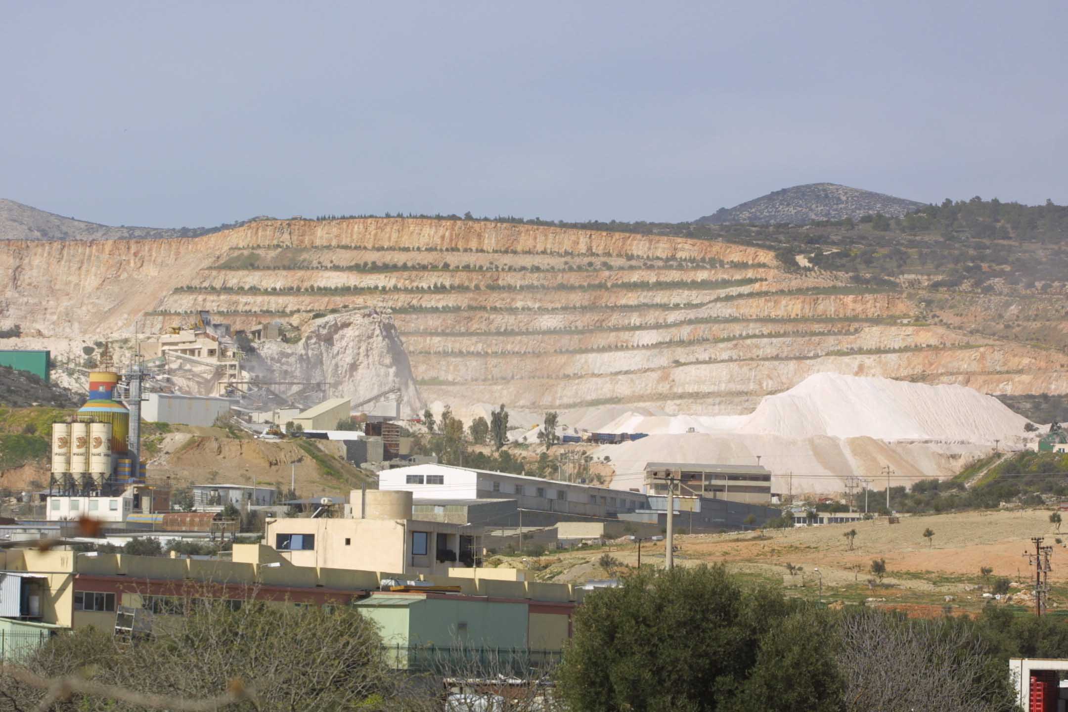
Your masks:
[{"label": "beige flat-roofed house with a round tank on its roof", "polygon": [[296,566],[447,575],[472,566],[482,529],[412,519],[407,491],[352,490],[340,519],[267,521],[266,543]]}]

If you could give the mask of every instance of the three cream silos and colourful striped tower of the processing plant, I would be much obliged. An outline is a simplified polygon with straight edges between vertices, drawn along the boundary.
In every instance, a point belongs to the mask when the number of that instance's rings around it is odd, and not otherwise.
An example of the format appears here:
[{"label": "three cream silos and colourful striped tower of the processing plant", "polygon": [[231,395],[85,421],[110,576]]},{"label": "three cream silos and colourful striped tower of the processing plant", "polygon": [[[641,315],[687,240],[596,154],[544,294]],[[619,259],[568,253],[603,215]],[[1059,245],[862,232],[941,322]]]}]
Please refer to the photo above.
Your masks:
[{"label": "three cream silos and colourful striped tower of the processing plant", "polygon": [[89,374],[89,399],[66,423],[52,425],[48,490],[60,496],[106,496],[144,485],[140,461],[142,369]]}]

